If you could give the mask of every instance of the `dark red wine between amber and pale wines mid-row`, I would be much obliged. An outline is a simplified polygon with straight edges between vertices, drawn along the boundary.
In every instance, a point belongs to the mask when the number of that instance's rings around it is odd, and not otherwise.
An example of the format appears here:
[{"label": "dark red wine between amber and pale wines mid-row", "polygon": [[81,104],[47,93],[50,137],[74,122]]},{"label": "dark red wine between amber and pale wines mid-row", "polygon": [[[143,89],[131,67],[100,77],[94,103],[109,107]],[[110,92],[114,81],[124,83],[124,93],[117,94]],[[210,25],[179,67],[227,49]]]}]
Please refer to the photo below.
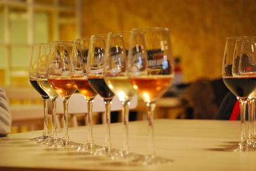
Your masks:
[{"label": "dark red wine between amber and pale wines mid-row", "polygon": [[105,83],[103,77],[88,78],[88,82],[104,100],[112,100],[113,96],[115,96],[115,94],[109,89],[108,85]]}]

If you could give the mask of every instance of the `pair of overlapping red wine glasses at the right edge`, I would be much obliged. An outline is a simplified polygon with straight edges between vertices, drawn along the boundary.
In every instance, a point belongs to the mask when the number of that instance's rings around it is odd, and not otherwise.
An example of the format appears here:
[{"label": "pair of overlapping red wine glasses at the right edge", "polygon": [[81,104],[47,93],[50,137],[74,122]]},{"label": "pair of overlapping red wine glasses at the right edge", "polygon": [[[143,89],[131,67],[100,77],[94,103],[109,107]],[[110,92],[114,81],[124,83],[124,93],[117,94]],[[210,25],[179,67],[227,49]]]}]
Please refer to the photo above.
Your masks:
[{"label": "pair of overlapping red wine glasses at the right edge", "polygon": [[[228,151],[255,151],[256,37],[227,38],[222,76],[225,85],[236,95],[240,105],[241,138]],[[246,138],[246,105],[249,130]]]}]

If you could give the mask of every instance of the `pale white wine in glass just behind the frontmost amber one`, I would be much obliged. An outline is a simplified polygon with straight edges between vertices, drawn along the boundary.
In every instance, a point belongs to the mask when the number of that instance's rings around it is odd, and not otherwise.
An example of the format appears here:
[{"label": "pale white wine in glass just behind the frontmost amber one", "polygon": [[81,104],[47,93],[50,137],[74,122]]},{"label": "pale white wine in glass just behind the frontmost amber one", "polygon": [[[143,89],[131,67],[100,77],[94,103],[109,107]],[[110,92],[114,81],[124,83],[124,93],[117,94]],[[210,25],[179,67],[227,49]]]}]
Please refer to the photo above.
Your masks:
[{"label": "pale white wine in glass just behind the frontmost amber one", "polygon": [[128,77],[105,77],[105,81],[120,101],[129,101],[136,93]]}]

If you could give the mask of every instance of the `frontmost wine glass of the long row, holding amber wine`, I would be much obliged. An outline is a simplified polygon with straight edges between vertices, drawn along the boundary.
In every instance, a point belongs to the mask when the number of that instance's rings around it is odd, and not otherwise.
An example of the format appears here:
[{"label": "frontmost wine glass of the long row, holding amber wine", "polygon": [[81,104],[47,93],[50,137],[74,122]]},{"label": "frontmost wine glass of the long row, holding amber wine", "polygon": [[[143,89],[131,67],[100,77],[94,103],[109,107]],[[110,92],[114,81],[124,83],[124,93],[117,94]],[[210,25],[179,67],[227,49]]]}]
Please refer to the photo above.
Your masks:
[{"label": "frontmost wine glass of the long row, holding amber wine", "polygon": [[128,56],[129,80],[148,110],[148,151],[137,162],[143,165],[172,163],[172,160],[155,156],[153,128],[156,100],[168,90],[174,77],[169,30],[161,27],[132,29]]}]

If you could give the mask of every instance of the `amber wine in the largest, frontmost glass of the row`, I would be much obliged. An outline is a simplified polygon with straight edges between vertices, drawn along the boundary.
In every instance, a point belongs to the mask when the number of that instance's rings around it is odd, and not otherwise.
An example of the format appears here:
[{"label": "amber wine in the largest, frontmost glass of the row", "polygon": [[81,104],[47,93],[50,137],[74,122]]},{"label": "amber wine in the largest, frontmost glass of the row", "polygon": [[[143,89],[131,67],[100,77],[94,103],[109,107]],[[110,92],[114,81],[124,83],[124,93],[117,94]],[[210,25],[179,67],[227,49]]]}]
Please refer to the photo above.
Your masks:
[{"label": "amber wine in the largest, frontmost glass of the row", "polygon": [[145,102],[150,103],[163,96],[168,87],[172,84],[173,76],[148,75],[130,78],[130,81],[141,98],[143,98]]}]

